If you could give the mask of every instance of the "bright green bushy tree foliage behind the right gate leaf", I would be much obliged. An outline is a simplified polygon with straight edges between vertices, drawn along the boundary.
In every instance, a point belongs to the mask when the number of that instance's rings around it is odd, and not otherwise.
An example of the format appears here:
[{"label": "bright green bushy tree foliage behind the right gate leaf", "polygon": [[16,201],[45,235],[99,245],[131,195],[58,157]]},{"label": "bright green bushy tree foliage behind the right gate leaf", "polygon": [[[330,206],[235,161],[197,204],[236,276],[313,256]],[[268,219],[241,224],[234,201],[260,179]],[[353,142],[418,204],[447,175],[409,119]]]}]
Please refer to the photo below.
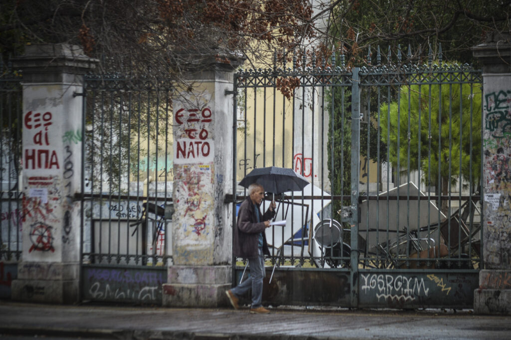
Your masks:
[{"label": "bright green bushy tree foliage behind the right gate leaf", "polygon": [[[461,73],[453,75],[460,77]],[[424,85],[401,86],[398,100],[380,107],[381,140],[388,143],[390,163],[398,171],[420,169],[424,183],[441,187],[444,194],[448,185],[458,184],[460,178],[464,184],[472,181],[476,188],[480,178],[481,86],[439,85],[427,74],[423,81]]]}]

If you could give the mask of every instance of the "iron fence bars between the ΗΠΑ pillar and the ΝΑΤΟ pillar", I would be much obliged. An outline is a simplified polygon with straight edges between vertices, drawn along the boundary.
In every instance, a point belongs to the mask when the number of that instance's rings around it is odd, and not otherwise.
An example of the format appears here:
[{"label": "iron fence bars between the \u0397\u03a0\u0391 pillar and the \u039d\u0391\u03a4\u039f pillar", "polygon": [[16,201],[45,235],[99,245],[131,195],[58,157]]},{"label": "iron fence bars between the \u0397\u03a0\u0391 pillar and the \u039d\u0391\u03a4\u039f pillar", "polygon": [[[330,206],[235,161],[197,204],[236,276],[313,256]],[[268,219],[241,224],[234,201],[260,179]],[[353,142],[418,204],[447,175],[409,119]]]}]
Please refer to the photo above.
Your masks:
[{"label": "iron fence bars between the \u0397\u03a0\u0391 pillar and the \u039d\u0391\u03a4\u039f pillar", "polygon": [[85,78],[83,263],[172,258],[172,85]]}]

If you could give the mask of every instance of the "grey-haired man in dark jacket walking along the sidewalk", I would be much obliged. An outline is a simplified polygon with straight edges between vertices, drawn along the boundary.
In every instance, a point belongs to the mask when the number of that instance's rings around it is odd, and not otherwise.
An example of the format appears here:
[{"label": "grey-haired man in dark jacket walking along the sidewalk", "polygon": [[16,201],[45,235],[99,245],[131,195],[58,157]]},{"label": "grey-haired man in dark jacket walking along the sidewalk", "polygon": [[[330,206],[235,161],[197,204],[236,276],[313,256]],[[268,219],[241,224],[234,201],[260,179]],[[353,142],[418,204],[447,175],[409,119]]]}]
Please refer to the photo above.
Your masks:
[{"label": "grey-haired man in dark jacket walking along the sidewalk", "polygon": [[275,215],[275,202],[261,214],[259,206],[264,199],[264,188],[259,184],[248,187],[248,197],[241,203],[238,222],[234,229],[233,253],[237,257],[248,259],[250,277],[239,286],[227,290],[227,298],[238,309],[238,298],[252,288],[252,305],[250,313],[267,314],[270,311],[261,305],[263,298],[264,255],[270,255],[264,230],[270,226]]}]

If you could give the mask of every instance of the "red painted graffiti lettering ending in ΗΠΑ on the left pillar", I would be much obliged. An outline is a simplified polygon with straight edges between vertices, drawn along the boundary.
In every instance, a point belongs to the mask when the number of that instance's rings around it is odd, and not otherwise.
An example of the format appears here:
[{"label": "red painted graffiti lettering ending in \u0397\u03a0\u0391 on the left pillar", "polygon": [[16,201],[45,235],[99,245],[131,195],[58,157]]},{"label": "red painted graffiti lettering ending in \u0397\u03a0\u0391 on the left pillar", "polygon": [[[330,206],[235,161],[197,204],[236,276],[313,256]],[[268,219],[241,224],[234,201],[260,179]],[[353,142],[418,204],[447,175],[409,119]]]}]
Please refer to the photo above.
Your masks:
[{"label": "red painted graffiti lettering ending in \u0397\u03a0\u0391 on the left pillar", "polygon": [[33,146],[24,148],[24,168],[60,169],[57,151],[50,145],[49,127],[53,124],[52,113],[29,111],[24,117],[24,126],[32,135]]}]

